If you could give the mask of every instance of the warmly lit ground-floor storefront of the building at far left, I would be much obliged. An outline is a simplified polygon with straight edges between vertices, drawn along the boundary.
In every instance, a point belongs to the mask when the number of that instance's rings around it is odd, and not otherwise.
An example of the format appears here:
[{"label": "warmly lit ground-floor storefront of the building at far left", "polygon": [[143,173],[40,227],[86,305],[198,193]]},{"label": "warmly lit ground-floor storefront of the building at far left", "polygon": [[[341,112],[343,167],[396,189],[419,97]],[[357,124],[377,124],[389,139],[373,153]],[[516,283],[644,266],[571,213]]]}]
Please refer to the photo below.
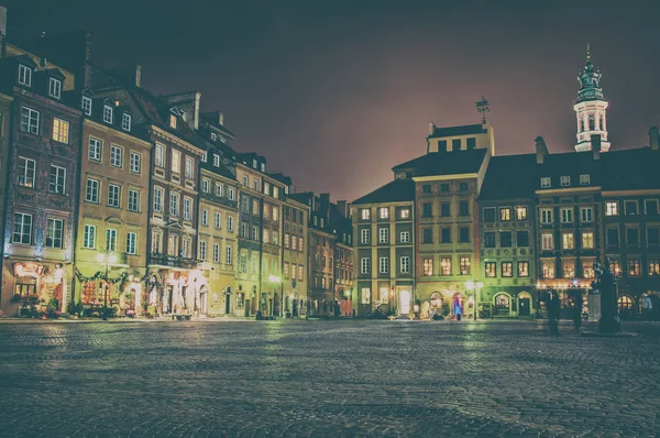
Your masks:
[{"label": "warmly lit ground-floor storefront of the building at far left", "polygon": [[35,317],[66,311],[73,281],[72,263],[7,258],[2,262],[0,309],[6,315]]}]

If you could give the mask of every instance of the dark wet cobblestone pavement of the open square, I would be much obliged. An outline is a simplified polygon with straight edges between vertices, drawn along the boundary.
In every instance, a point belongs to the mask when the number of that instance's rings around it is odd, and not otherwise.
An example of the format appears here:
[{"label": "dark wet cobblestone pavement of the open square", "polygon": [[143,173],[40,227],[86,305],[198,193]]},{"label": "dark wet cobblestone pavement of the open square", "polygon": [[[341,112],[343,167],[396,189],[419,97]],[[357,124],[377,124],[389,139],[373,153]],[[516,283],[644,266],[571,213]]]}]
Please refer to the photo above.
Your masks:
[{"label": "dark wet cobblestone pavement of the open square", "polygon": [[657,436],[660,325],[0,325],[0,435]]}]

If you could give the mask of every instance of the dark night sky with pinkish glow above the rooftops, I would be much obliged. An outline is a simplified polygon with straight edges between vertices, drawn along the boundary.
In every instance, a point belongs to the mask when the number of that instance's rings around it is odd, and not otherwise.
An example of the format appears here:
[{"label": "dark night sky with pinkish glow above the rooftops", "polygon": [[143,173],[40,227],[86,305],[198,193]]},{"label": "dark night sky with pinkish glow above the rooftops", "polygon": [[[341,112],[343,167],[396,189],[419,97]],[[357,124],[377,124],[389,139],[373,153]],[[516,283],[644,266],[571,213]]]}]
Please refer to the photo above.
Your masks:
[{"label": "dark night sky with pinkish glow above the rooftops", "polygon": [[350,200],[426,151],[428,121],[479,122],[496,153],[575,141],[585,44],[603,73],[613,149],[660,123],[658,1],[0,0],[9,37],[89,28],[95,58],[143,67],[155,94],[198,90],[237,149],[298,190]]}]

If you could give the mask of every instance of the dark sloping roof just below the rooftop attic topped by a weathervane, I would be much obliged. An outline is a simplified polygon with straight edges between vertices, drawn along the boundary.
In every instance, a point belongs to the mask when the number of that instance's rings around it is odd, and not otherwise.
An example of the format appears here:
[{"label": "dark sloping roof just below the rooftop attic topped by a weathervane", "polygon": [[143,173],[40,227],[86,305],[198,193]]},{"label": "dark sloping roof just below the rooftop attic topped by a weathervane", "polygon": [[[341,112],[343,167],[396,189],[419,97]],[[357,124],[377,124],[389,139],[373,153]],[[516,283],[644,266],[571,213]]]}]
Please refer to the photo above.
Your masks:
[{"label": "dark sloping roof just below the rooftop attic topped by a weathervane", "polygon": [[472,149],[468,151],[431,152],[408,162],[398,164],[394,172],[410,169],[413,176],[457,175],[479,172],[486,149]]}]

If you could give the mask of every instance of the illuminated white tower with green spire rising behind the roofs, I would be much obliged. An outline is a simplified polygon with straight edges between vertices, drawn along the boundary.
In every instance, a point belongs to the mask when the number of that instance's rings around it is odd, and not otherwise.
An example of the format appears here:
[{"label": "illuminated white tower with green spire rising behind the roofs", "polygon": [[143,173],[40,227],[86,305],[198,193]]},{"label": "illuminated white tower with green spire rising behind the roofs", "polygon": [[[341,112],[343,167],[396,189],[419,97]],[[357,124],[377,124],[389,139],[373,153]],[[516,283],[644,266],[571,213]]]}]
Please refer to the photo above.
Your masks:
[{"label": "illuminated white tower with green spire rising behind the roofs", "polygon": [[607,141],[607,101],[601,88],[601,69],[591,62],[591,48],[586,45],[586,65],[579,72],[580,91],[573,106],[578,116],[578,143],[575,151],[591,151],[591,136],[601,134],[601,152],[609,150]]}]

